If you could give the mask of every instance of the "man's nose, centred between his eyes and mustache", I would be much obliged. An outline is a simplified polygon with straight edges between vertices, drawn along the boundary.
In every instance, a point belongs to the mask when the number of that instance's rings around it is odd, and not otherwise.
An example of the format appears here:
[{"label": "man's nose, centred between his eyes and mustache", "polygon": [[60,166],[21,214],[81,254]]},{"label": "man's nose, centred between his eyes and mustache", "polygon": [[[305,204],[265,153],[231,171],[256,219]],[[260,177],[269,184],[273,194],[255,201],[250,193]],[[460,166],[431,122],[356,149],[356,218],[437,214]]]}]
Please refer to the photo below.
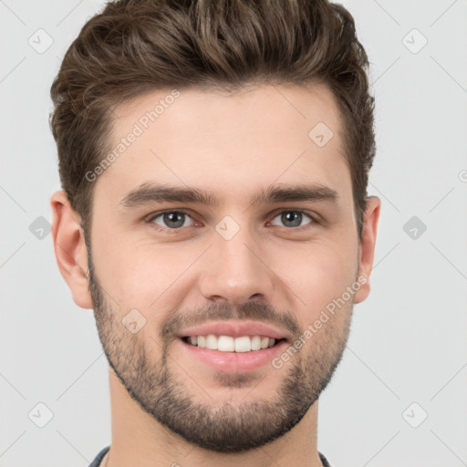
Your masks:
[{"label": "man's nose, centred between his eyes and mustache", "polygon": [[[265,247],[241,229],[230,239],[217,235],[203,255],[200,289],[213,302],[240,306],[249,300],[272,301],[275,274]],[[271,261],[269,261],[270,263]]]}]

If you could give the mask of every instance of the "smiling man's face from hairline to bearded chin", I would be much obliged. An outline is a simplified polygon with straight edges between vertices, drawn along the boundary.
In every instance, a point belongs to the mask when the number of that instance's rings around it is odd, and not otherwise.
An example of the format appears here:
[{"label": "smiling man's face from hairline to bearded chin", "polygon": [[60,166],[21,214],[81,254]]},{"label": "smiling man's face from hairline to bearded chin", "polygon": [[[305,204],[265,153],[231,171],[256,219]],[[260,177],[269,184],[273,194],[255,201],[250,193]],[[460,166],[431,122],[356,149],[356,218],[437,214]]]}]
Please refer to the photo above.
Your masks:
[{"label": "smiling man's face from hairline to bearded chin", "polygon": [[[186,441],[244,451],[304,417],[367,293],[342,123],[323,85],[170,95],[116,109],[89,290],[131,398]],[[332,138],[310,137],[319,122]]]}]

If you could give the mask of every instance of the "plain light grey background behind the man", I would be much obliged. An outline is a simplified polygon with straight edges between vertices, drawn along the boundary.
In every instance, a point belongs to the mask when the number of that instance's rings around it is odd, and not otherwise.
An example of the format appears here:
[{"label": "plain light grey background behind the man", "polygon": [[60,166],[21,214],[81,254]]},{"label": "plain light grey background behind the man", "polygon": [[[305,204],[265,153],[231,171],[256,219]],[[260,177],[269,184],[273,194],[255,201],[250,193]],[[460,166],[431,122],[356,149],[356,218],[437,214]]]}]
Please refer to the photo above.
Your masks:
[{"label": "plain light grey background behind the man", "polygon": [[[333,467],[467,465],[467,2],[342,3],[371,61],[369,193],[382,212],[372,292],[355,307],[320,399],[318,448]],[[101,5],[0,0],[1,467],[87,467],[110,442],[108,365],[92,311],[72,301],[36,221],[51,221],[59,189],[49,88]],[[53,39],[43,53],[39,28]],[[412,216],[424,233],[404,231]],[[44,428],[38,403],[53,412]]]}]

